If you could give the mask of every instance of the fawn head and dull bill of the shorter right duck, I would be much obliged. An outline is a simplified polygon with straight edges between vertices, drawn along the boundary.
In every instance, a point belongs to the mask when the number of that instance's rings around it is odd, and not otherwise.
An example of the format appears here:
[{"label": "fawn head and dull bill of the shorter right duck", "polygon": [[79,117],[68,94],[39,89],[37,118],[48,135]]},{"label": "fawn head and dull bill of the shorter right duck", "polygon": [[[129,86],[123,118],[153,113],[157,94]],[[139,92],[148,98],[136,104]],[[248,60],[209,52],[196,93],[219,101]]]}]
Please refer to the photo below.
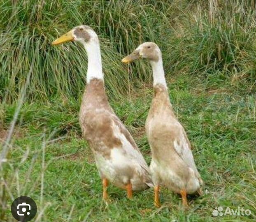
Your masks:
[{"label": "fawn head and dull bill of the shorter right duck", "polygon": [[154,42],[144,42],[140,44],[130,55],[122,59],[123,63],[129,63],[137,58],[147,58],[152,62],[157,62],[161,58],[161,50]]}]

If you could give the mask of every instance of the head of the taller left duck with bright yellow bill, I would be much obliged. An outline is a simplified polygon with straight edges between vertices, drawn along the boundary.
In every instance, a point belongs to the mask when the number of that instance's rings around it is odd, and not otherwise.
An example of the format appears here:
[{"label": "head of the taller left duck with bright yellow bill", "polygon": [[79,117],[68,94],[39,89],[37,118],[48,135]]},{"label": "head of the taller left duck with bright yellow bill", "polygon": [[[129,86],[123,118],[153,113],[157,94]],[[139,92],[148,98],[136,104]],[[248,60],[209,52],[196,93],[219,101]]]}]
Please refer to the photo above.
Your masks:
[{"label": "head of the taller left duck with bright yellow bill", "polygon": [[84,46],[91,43],[99,43],[98,36],[94,30],[87,25],[79,25],[52,42],[58,45],[64,42],[80,42]]}]

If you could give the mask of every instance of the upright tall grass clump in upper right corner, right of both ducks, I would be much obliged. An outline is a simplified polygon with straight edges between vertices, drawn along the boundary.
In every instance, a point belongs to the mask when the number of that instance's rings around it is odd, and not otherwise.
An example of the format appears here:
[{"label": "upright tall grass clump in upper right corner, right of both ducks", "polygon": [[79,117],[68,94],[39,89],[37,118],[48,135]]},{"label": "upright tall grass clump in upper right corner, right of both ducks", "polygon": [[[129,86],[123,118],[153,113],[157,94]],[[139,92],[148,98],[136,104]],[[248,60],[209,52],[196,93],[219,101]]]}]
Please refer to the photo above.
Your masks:
[{"label": "upright tall grass clump in upper right corner, right of both ducks", "polygon": [[[221,72],[223,78],[256,80],[256,7],[254,1],[198,1],[189,21],[170,39],[179,69],[207,76]],[[174,62],[174,63],[175,63]]]}]

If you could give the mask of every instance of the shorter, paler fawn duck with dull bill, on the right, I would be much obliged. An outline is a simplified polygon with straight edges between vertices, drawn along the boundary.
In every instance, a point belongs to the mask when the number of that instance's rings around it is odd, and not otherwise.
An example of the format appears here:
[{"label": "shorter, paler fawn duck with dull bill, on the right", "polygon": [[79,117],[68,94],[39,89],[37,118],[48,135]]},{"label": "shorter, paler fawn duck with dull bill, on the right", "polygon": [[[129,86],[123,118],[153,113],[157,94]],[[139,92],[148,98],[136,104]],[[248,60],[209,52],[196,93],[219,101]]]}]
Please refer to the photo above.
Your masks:
[{"label": "shorter, paler fawn duck with dull bill, on the right", "polygon": [[145,129],[152,157],[149,168],[154,183],[154,205],[161,206],[159,190],[160,185],[165,185],[181,194],[182,204],[187,207],[187,194],[202,195],[203,181],[196,168],[184,127],[170,103],[162,53],[154,42],[144,42],[123,58],[122,62],[129,63],[138,58],[149,60],[153,69],[154,95]]}]

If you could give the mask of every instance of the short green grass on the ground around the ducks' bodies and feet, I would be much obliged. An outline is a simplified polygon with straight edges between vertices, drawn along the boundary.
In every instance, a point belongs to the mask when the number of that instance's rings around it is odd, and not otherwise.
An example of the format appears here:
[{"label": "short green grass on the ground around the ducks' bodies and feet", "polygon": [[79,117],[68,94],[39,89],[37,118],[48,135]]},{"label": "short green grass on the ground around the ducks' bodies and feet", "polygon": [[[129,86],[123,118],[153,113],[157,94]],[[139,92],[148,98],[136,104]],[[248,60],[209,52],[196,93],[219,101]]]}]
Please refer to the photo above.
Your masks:
[{"label": "short green grass on the ground around the ducks' bodies and feet", "polygon": [[[186,75],[177,76],[171,82],[171,102],[188,132],[196,164],[205,181],[206,194],[199,198],[189,197],[189,210],[184,212],[181,198],[165,188],[161,190],[163,206],[160,209],[153,206],[152,189],[136,193],[132,200],[128,200],[125,191],[113,186],[109,186],[112,202],[106,206],[102,202],[102,185],[93,155],[81,138],[77,118],[79,106],[72,101],[67,104],[55,101],[23,105],[6,169],[9,175],[6,182],[12,195],[31,196],[40,211],[47,206],[40,221],[68,221],[69,217],[70,221],[84,221],[86,218],[86,221],[255,219],[254,96],[244,96],[237,90],[230,92],[228,86],[212,91],[207,89],[211,82],[202,83],[200,79]],[[149,145],[143,127],[152,92],[151,89],[143,89],[138,93],[144,97],[136,97],[132,101],[112,101],[112,106],[135,136],[149,163]],[[13,106],[5,107],[7,124],[12,119],[13,110]],[[19,192],[16,190],[18,183]],[[43,198],[40,202],[42,184]],[[6,221],[12,220],[10,203],[8,197]],[[212,217],[212,210],[218,206],[233,209],[240,206],[250,209],[253,214],[250,217],[225,216],[216,219]]]}]

